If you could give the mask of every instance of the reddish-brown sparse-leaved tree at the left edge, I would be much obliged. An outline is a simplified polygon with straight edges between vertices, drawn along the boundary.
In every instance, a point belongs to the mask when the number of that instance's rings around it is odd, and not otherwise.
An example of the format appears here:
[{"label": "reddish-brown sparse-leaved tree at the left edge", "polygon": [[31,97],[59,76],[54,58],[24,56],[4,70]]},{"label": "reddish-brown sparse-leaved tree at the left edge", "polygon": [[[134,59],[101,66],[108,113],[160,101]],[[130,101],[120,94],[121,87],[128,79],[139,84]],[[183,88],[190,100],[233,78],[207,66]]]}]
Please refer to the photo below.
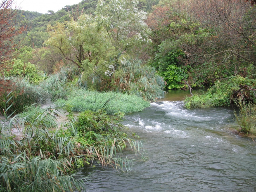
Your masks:
[{"label": "reddish-brown sparse-leaved tree at the left edge", "polygon": [[12,61],[18,57],[15,50],[17,43],[14,37],[26,30],[17,7],[13,8],[14,0],[3,0],[0,3],[0,92],[6,88],[4,71],[12,68]]}]

